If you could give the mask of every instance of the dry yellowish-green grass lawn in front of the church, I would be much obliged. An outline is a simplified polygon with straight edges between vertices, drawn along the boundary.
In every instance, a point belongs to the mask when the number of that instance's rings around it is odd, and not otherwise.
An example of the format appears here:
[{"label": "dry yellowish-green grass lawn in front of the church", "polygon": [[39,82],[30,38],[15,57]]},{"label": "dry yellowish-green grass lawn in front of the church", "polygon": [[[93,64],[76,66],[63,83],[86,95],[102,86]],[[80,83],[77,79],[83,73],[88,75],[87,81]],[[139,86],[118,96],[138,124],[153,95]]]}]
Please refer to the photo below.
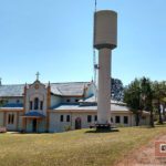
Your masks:
[{"label": "dry yellowish-green grass lawn in front of the church", "polygon": [[155,136],[166,134],[166,127],[91,131],[0,134],[0,166],[113,166]]}]

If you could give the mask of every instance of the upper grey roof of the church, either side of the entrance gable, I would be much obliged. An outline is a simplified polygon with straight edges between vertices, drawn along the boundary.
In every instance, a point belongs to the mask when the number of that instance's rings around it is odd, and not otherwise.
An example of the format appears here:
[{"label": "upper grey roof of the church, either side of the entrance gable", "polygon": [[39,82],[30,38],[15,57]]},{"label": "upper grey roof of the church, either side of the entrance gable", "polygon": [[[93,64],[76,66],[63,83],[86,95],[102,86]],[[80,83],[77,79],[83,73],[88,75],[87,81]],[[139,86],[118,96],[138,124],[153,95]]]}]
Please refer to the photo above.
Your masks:
[{"label": "upper grey roof of the church, either side of the entrance gable", "polygon": [[[90,82],[51,83],[51,92],[62,96],[81,96]],[[44,84],[48,85],[48,84]],[[0,97],[23,96],[24,84],[0,85]]]}]

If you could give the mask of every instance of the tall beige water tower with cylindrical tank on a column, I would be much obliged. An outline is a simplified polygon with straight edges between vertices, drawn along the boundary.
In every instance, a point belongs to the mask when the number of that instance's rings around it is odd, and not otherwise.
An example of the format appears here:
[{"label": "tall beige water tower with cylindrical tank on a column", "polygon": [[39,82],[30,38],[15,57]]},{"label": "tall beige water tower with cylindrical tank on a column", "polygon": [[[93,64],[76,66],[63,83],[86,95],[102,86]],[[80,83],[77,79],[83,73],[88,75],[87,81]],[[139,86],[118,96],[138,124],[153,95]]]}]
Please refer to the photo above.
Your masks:
[{"label": "tall beige water tower with cylindrical tank on a column", "polygon": [[94,49],[98,50],[98,92],[96,128],[110,128],[112,50],[117,45],[117,13],[101,10],[94,13]]}]

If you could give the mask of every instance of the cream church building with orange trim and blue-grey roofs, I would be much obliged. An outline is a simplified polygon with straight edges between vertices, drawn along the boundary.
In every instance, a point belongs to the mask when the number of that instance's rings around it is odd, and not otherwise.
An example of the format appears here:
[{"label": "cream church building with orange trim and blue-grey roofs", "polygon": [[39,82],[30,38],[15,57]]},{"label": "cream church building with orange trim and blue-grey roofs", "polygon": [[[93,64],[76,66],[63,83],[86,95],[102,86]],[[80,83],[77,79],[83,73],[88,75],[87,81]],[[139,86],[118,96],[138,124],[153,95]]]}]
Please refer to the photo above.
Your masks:
[{"label": "cream church building with orange trim and blue-grey roofs", "polygon": [[[87,128],[97,122],[93,82],[0,85],[0,127],[27,133],[55,133]],[[111,122],[134,126],[135,116],[124,103],[111,102]],[[149,123],[144,112],[141,124]]]}]

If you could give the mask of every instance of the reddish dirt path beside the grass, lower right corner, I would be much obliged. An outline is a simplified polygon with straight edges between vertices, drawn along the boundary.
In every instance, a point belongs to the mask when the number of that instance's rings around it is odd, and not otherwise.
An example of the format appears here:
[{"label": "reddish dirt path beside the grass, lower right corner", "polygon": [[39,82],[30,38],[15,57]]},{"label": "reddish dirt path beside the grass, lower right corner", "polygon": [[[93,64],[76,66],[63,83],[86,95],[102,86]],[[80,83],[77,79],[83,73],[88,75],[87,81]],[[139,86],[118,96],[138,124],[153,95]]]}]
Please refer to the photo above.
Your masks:
[{"label": "reddish dirt path beside the grass, lower right corner", "polygon": [[166,157],[157,158],[155,156],[155,142],[166,142],[166,135],[158,136],[151,141],[147,145],[134,151],[125,156],[124,160],[116,166],[166,166]]}]

